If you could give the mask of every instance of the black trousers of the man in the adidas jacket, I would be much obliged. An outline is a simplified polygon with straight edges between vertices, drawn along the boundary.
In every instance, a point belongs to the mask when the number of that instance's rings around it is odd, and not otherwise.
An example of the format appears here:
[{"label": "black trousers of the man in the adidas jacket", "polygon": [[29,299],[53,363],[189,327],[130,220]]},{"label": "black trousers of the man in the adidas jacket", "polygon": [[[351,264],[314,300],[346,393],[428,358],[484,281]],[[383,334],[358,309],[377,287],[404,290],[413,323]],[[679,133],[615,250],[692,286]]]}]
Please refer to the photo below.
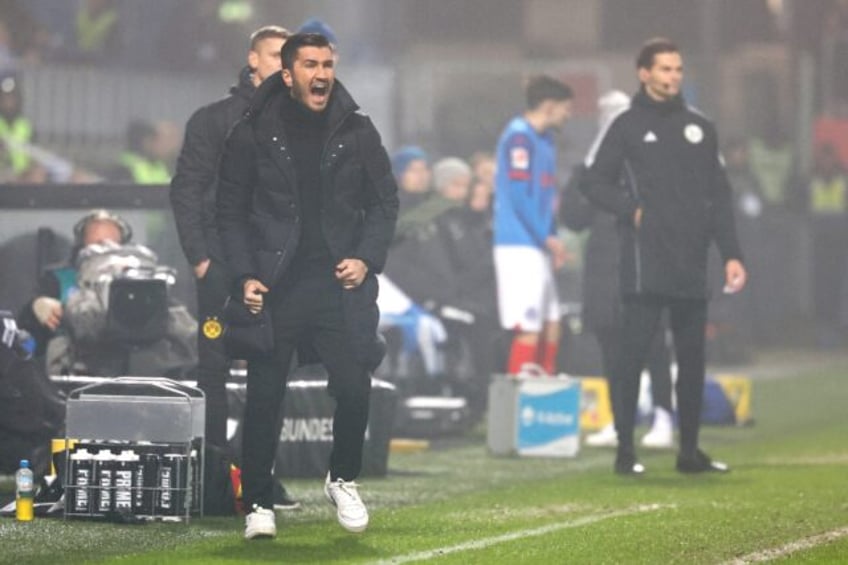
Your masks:
[{"label": "black trousers of the man in the adidas jacket", "polygon": [[660,316],[666,309],[677,357],[675,390],[680,451],[689,455],[698,447],[706,362],[706,300],[639,295],[624,299],[622,345],[612,373],[617,385],[617,394],[613,396],[613,413],[620,454],[633,454],[635,451],[633,427],[639,399],[639,375],[657,332]]}]

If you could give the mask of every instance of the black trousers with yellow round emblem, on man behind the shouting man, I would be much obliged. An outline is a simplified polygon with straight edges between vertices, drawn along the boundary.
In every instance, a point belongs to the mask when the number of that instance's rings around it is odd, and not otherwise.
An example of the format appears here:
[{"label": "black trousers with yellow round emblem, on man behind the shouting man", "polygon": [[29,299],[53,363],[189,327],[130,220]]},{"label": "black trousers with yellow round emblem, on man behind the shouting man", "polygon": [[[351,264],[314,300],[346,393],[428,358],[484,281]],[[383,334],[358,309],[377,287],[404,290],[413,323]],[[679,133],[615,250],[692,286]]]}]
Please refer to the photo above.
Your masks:
[{"label": "black trousers with yellow round emblem, on man behind the shouting man", "polygon": [[206,276],[197,281],[197,386],[206,395],[206,441],[227,447],[227,380],[231,360],[220,336],[204,335],[207,320],[221,320],[224,301],[230,294],[230,275],[221,263],[212,261]]}]

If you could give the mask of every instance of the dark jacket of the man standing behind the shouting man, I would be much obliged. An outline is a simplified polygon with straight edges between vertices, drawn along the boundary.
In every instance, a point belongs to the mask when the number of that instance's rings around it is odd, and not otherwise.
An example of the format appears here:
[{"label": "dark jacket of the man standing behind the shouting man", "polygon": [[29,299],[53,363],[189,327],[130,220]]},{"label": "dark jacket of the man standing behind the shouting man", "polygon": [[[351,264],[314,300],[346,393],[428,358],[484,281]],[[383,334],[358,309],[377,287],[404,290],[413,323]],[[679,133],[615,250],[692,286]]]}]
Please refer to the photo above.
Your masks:
[{"label": "dark jacket of the man standing behind the shouting man", "polygon": [[205,259],[223,261],[215,229],[215,190],[218,161],[230,129],[250,105],[256,89],[245,67],[230,95],[199,108],[189,118],[185,140],[171,180],[171,207],[186,258],[191,265]]}]

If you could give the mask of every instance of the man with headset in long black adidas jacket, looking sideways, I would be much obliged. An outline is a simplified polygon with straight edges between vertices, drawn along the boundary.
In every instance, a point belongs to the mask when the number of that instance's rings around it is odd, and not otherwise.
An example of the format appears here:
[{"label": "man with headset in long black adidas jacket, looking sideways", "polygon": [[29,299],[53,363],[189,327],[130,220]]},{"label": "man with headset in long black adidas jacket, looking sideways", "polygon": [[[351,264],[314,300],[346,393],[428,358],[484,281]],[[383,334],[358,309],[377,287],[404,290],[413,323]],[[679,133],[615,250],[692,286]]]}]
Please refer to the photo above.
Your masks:
[{"label": "man with headset in long black adidas jacket, looking sideways", "polygon": [[[641,474],[633,447],[639,374],[660,315],[669,310],[678,361],[681,472],[726,471],[698,448],[704,387],[707,251],[718,245],[725,292],[746,272],[736,238],[731,187],[713,124],[680,95],[683,65],[667,39],[648,41],[636,61],[642,88],[586,158],[586,196],[619,221],[623,346],[612,378],[620,386],[615,471]],[[624,182],[619,182],[624,179]]]}]

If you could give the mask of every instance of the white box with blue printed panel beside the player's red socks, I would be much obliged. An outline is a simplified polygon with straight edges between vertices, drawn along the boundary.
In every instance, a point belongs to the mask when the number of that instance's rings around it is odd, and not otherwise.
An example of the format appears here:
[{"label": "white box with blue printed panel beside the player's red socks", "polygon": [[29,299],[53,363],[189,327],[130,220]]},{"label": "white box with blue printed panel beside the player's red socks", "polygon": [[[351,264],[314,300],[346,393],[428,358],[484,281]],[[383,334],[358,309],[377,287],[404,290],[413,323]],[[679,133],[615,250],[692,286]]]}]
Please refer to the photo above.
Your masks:
[{"label": "white box with blue printed panel beside the player's red socks", "polygon": [[580,380],[495,375],[487,444],[494,455],[574,457],[580,450]]}]

